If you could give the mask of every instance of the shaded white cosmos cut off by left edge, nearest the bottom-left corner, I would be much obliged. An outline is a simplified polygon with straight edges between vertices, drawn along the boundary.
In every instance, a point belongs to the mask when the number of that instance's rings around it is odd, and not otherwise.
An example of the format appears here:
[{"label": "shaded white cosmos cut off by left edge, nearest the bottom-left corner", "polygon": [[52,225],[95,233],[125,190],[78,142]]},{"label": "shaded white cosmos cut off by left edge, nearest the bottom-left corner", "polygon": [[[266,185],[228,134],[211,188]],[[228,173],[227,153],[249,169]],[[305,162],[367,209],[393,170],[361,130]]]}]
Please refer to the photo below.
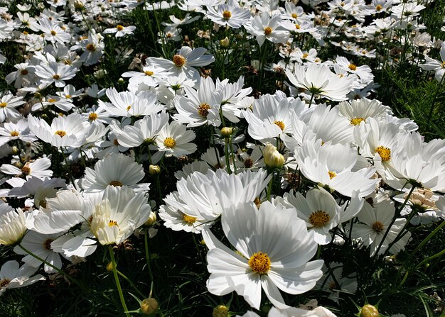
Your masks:
[{"label": "shaded white cosmos cut off by left edge, nearest the bottom-left corner", "polygon": [[37,268],[29,265],[18,267],[18,262],[11,260],[1,266],[0,269],[0,296],[4,294],[6,289],[16,289],[18,287],[27,287],[38,281],[45,280],[41,274],[34,275]]}]

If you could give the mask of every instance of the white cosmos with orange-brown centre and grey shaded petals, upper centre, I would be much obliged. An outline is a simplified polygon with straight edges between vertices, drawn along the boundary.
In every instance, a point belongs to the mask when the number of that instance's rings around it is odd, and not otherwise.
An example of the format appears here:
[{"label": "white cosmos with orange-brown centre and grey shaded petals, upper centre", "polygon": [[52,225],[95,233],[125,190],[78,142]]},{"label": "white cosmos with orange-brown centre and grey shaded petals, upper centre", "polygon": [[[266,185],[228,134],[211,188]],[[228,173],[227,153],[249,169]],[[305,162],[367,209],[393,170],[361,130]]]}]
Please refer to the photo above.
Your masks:
[{"label": "white cosmos with orange-brown centre and grey shaded petals, upper centre", "polygon": [[199,72],[193,67],[207,66],[215,61],[213,55],[204,55],[205,52],[207,52],[205,48],[191,49],[188,46],[183,46],[172,60],[149,57],[148,62],[166,72],[171,72],[173,76],[178,77],[180,74],[186,74],[188,79],[199,80]]}]

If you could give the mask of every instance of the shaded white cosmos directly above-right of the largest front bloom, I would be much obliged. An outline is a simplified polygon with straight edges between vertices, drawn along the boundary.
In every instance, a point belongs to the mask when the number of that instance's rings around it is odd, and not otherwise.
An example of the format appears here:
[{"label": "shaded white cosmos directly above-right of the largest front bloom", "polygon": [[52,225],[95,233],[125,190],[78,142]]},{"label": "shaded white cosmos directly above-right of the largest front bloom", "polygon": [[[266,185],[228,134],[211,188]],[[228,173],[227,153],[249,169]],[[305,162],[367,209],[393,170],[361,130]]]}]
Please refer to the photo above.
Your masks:
[{"label": "shaded white cosmos directly above-right of the largest front bloom", "polygon": [[306,198],[299,192],[286,193],[282,203],[296,208],[297,216],[304,220],[308,230],[314,232],[314,239],[319,245],[331,242],[332,236],[329,230],[339,223],[349,221],[363,207],[363,199],[358,198],[359,191],[353,191],[348,208],[347,204],[339,206],[336,199],[325,189],[313,188],[306,194]]}]

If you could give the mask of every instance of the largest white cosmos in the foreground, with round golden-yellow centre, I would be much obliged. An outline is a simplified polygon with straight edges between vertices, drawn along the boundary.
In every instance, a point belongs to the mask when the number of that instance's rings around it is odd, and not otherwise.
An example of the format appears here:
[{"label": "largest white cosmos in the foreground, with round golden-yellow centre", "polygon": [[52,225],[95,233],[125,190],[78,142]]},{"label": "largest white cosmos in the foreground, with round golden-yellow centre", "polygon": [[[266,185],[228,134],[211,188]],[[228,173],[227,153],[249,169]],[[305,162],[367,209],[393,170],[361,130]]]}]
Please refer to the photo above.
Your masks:
[{"label": "largest white cosmos in the foreground, with round golden-yellow centre", "polygon": [[269,201],[262,203],[259,210],[253,203],[225,209],[223,230],[237,252],[210,231],[203,231],[210,249],[210,293],[222,296],[236,291],[250,306],[259,309],[263,289],[272,304],[287,308],[279,289],[289,294],[312,289],[323,274],[323,260],[309,262],[316,253],[316,243],[295,212],[294,208],[274,206]]}]

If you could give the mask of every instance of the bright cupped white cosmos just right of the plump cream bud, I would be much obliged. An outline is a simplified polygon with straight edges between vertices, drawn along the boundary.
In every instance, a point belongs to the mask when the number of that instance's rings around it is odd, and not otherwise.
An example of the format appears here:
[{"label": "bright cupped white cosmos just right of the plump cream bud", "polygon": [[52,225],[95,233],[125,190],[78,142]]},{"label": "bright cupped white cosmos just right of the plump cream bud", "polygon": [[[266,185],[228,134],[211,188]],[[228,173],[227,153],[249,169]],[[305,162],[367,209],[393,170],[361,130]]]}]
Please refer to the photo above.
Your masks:
[{"label": "bright cupped white cosmos just right of the plump cream bud", "polygon": [[296,161],[304,177],[348,197],[353,196],[355,190],[360,190],[359,197],[368,196],[380,180],[371,179],[375,168],[358,169],[362,164],[357,150],[348,144],[322,145],[320,139],[305,140],[296,151]]}]

